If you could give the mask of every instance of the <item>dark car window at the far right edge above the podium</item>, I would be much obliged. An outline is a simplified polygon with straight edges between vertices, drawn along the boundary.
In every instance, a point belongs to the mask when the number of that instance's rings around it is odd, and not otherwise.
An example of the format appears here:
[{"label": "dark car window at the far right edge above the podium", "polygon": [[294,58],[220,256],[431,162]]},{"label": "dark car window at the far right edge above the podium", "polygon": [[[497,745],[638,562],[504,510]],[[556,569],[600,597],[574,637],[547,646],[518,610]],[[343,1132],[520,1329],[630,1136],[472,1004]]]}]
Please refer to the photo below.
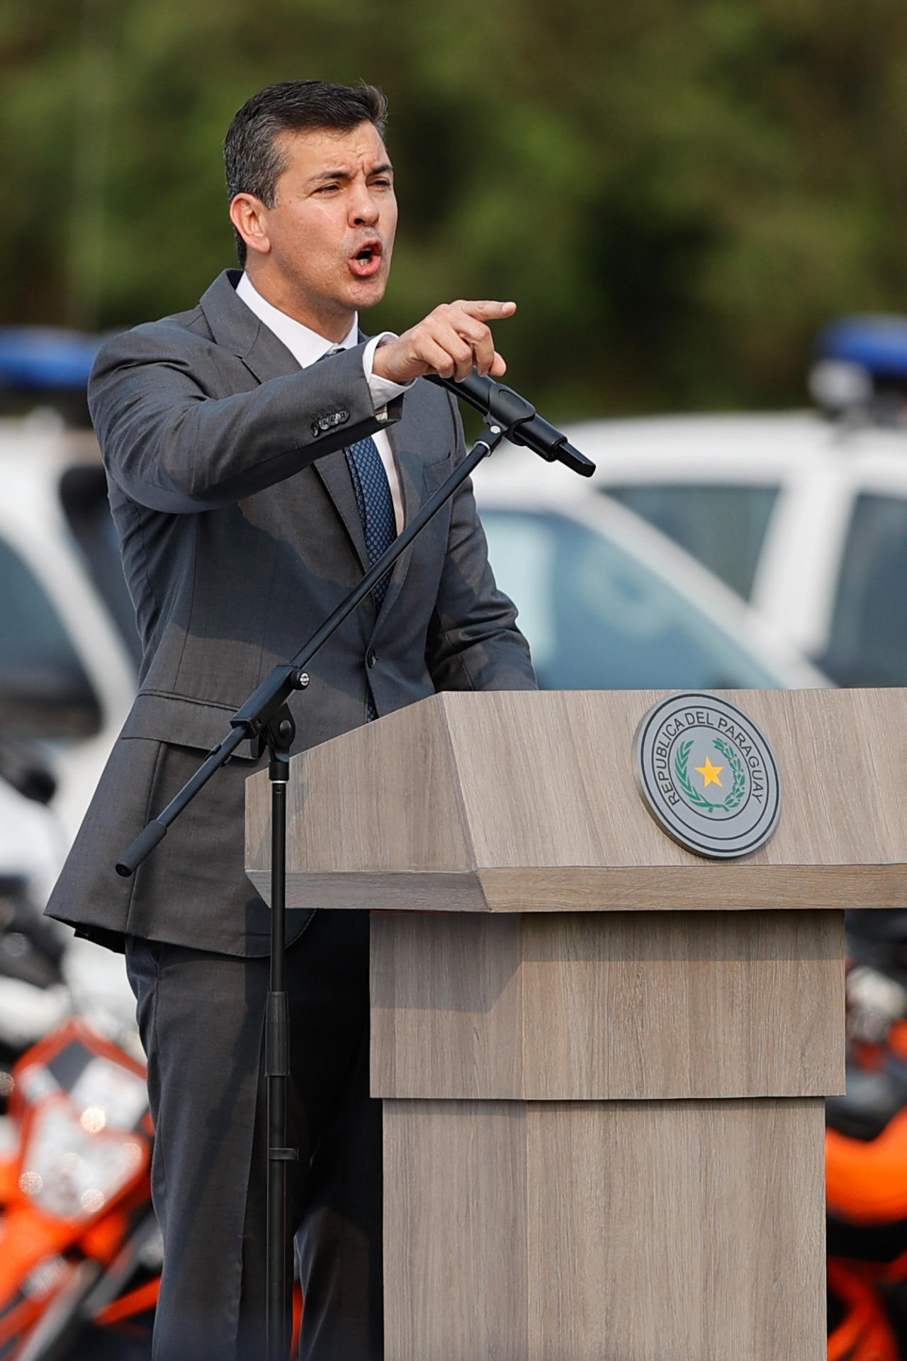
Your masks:
[{"label": "dark car window at the far right edge above the podium", "polygon": [[906,581],[907,501],[859,495],[819,663],[839,685],[907,685]]}]

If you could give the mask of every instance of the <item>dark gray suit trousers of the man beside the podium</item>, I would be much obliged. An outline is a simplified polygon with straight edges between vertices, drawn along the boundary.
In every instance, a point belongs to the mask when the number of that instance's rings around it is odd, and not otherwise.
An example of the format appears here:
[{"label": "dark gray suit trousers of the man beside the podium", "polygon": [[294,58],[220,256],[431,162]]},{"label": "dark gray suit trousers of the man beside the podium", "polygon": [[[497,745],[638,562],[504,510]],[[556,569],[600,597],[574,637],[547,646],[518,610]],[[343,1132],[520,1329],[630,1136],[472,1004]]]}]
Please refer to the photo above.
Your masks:
[{"label": "dark gray suit trousers of the man beside the podium", "polygon": [[[165,1240],[155,1361],[262,1361],[268,960],[128,938],[151,1055]],[[290,1226],[305,1361],[379,1361],[381,1102],[369,1096],[369,919],[318,912],[287,951]],[[291,1243],[287,1244],[291,1252]]]}]

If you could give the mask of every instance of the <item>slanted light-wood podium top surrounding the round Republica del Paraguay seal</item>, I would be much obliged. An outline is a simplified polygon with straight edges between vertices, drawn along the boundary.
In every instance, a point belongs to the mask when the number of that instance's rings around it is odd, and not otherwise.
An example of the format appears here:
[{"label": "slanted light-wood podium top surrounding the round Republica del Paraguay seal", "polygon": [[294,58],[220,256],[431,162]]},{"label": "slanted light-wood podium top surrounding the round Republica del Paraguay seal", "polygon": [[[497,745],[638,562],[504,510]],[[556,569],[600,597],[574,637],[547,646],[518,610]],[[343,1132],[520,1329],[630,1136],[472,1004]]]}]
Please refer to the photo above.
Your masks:
[{"label": "slanted light-wood podium top surrounding the round Republica del Paraguay seal", "polygon": [[[783,783],[771,841],[710,862],[635,784],[632,739],[670,691],[445,693],[292,758],[288,905],[441,911],[902,906],[907,690],[717,691]],[[267,773],[246,870],[268,896]]]}]

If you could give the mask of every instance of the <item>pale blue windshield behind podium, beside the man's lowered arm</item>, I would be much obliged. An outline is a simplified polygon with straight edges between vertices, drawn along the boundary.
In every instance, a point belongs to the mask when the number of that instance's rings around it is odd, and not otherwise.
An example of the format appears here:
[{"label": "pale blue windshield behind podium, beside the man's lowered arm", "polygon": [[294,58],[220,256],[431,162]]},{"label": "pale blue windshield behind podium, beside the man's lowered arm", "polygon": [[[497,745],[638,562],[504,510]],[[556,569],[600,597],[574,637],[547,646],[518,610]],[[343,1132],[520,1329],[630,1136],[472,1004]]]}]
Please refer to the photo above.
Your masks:
[{"label": "pale blue windshield behind podium, beside the man's lowered arm", "polygon": [[764,689],[733,638],[604,535],[548,512],[483,510],[502,591],[553,690]]}]

